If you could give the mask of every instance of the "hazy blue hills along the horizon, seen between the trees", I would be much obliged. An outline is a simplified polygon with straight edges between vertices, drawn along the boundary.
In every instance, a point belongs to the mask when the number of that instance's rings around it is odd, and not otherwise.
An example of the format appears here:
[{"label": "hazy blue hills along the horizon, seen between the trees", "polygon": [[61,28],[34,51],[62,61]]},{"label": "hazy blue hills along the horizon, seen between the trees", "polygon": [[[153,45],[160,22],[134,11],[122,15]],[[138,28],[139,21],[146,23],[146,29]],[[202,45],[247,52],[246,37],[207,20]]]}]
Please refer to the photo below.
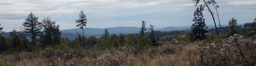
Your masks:
[{"label": "hazy blue hills along the horizon, seen between the trees", "polygon": [[[237,25],[243,25],[244,23],[238,23]],[[207,25],[208,29],[215,28],[214,25]],[[222,27],[226,27],[228,25],[222,25]],[[155,31],[174,31],[174,30],[186,30],[186,31],[191,31],[190,29],[191,26],[180,26],[180,27],[165,27],[163,29],[156,29]],[[148,27],[146,27],[148,28]],[[90,37],[90,36],[95,36],[96,38],[100,38],[101,35],[104,33],[105,29],[108,29],[108,32],[111,34],[115,33],[117,35],[123,33],[123,34],[128,34],[128,33],[139,33],[140,28],[139,27],[111,27],[111,28],[90,28],[86,27],[84,28],[84,36],[85,37]],[[60,30],[62,33],[61,37],[66,37],[70,40],[74,40],[77,36],[76,31],[78,33],[81,32],[82,34],[82,29],[77,28],[77,29],[66,29],[66,30]],[[147,32],[147,31],[146,31]],[[2,34],[3,36],[7,37],[9,36],[10,32],[6,32]],[[30,36],[27,36],[27,39],[30,39]]]}]

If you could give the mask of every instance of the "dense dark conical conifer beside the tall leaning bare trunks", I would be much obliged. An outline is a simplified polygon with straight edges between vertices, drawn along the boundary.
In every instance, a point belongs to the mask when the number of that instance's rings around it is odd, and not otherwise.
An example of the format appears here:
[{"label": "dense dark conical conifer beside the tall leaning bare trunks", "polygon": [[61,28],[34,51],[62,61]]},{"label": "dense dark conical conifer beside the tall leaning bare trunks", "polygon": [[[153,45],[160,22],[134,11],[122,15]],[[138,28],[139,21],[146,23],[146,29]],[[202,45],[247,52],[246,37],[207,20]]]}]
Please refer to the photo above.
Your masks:
[{"label": "dense dark conical conifer beside the tall leaning bare trunks", "polygon": [[203,18],[203,14],[202,14],[202,9],[201,8],[196,8],[196,11],[194,11],[194,19],[192,21],[194,21],[193,25],[191,26],[191,31],[193,32],[193,36],[195,37],[195,39],[205,39],[206,35],[205,33],[207,33],[208,31],[206,31],[206,29],[208,29],[208,27],[206,27],[204,18]]}]

